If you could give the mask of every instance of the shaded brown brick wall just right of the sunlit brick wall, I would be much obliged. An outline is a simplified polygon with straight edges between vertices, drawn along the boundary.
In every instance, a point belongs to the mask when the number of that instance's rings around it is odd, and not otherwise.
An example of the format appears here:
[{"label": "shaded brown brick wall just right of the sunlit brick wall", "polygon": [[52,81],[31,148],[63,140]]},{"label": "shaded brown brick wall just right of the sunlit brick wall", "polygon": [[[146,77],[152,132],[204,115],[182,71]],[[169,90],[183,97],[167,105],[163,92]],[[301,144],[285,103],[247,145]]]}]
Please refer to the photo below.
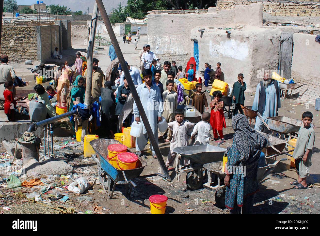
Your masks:
[{"label": "shaded brown brick wall just right of the sunlit brick wall", "polygon": [[59,25],[39,26],[41,37],[41,62],[51,58],[56,47],[60,48]]}]

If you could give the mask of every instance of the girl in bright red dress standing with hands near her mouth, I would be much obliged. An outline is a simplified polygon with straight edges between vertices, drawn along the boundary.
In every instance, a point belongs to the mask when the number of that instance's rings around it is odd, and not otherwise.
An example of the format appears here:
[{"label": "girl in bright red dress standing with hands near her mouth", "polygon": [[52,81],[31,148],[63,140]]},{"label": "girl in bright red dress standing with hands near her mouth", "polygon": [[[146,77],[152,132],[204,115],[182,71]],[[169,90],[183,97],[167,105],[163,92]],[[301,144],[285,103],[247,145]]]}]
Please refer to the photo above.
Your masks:
[{"label": "girl in bright red dress standing with hands near her mouth", "polygon": [[223,101],[220,100],[222,98],[221,91],[213,92],[213,100],[210,103],[211,107],[211,116],[210,116],[210,124],[213,130],[213,139],[218,139],[218,133],[221,138],[221,141],[225,142],[226,140],[223,138],[222,128],[227,128],[226,120],[223,115]]}]

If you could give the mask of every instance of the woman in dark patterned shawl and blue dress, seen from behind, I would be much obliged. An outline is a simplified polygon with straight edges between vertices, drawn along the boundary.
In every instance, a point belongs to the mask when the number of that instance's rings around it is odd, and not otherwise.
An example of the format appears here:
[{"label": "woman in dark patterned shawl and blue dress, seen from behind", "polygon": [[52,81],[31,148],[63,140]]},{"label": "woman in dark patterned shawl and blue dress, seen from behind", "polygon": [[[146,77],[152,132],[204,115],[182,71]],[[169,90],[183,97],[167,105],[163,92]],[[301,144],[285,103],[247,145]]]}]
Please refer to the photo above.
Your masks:
[{"label": "woman in dark patterned shawl and blue dress, seen from behind", "polygon": [[258,162],[262,148],[267,145],[267,139],[253,130],[246,116],[242,114],[232,118],[232,128],[236,133],[232,146],[226,151],[228,162],[227,175],[224,178],[227,186],[225,205],[231,214],[240,214],[241,208],[242,214],[251,213],[254,195],[259,190]]}]

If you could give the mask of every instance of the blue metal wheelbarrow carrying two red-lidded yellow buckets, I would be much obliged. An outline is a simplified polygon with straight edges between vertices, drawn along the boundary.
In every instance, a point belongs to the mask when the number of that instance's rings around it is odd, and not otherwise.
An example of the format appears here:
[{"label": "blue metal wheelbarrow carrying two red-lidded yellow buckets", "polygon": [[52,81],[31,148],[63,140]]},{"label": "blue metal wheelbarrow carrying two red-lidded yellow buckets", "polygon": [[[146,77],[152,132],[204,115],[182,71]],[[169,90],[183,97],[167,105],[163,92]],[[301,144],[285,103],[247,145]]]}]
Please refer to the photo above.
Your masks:
[{"label": "blue metal wheelbarrow carrying two red-lidded yellow buckets", "polygon": [[[109,198],[112,198],[116,185],[125,185],[126,193],[130,197],[132,187],[137,185],[132,179],[139,177],[143,169],[147,166],[147,162],[138,158],[137,166],[135,169],[120,170],[114,168],[108,161],[108,146],[110,144],[120,144],[115,139],[99,138],[90,141],[90,145],[94,149],[96,155],[92,155],[98,165],[98,175],[100,183],[104,191],[108,194]],[[130,152],[128,149],[127,152]]]}]

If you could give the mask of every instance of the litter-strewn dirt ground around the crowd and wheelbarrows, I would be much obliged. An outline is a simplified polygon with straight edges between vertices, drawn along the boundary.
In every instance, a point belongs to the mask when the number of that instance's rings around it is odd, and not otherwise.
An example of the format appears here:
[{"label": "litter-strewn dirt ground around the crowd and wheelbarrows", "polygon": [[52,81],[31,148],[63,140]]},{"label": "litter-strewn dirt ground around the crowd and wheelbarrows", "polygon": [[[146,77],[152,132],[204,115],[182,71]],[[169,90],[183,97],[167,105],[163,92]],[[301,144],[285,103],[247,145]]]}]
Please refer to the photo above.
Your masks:
[{"label": "litter-strewn dirt ground around the crowd and wheelbarrows", "polygon": [[[108,35],[101,35],[108,38]],[[75,39],[73,37],[73,48],[77,50],[83,50],[83,38]],[[122,38],[117,37],[120,43],[121,49],[124,53],[125,59],[132,66],[139,66],[138,52],[142,49],[142,45],[147,42],[147,37],[140,38],[139,50],[134,50],[134,45],[123,44]],[[83,50],[85,51],[85,50]],[[94,57],[100,60],[99,66],[102,70],[106,70],[110,59],[108,57],[108,47],[104,47],[102,50],[95,50]],[[30,72],[26,69],[25,65],[14,65],[16,73],[22,76],[24,79],[29,80],[33,78]],[[179,66],[179,65],[178,65]],[[18,88],[21,92],[27,92],[32,90],[33,84],[24,88]],[[45,84],[46,86],[46,84]],[[204,88],[209,89],[209,88]],[[210,101],[209,96],[207,96]],[[254,94],[246,93],[245,106],[252,106]],[[301,114],[306,111],[305,101],[302,98],[291,98],[281,100],[281,108],[279,115],[285,115],[295,119],[301,119]],[[313,123],[316,127],[320,125],[319,112],[314,110],[314,104],[310,104],[309,111],[314,115]],[[226,143],[221,147],[227,148],[232,144],[233,130],[231,126],[231,119],[228,119],[225,114],[227,128],[223,130],[226,138]],[[312,155],[312,166],[310,168],[310,176],[307,179],[309,185],[308,189],[295,190],[290,181],[297,179],[295,169],[290,168],[290,160],[282,161],[276,167],[275,173],[270,173],[264,180],[260,182],[260,191],[256,194],[253,212],[266,214],[291,214],[291,213],[319,213],[320,210],[320,174],[318,173],[320,167],[320,137],[319,130],[316,128],[316,141]],[[100,137],[101,138],[101,137]],[[13,140],[12,140],[13,141]],[[220,140],[210,141],[211,145],[217,146]],[[167,154],[169,152],[170,143],[164,143],[164,140],[159,140],[159,147],[161,153],[166,161]],[[146,146],[146,151],[148,146]],[[3,146],[0,147],[0,151],[3,153],[0,157],[0,165],[8,161],[8,156],[4,153]],[[135,150],[132,149],[134,152]],[[40,148],[40,160],[44,160],[44,147]],[[168,197],[168,204],[166,213],[178,213],[178,214],[197,214],[197,213],[220,213],[228,214],[228,209],[220,209],[215,204],[214,192],[201,188],[199,190],[192,191],[187,188],[185,183],[186,174],[182,173],[180,176],[180,182],[174,177],[174,171],[171,171],[173,181],[169,182],[152,175],[159,172],[159,164],[156,159],[153,159],[149,154],[145,161],[148,165],[142,172],[141,176],[135,178],[133,181],[137,185],[132,190],[131,196],[125,196],[121,193],[125,193],[124,186],[117,186],[116,191],[120,191],[114,198],[109,199],[108,195],[103,191],[100,180],[98,177],[98,167],[96,162],[92,158],[85,158],[82,155],[82,146],[76,142],[73,138],[55,138],[54,139],[54,153],[56,157],[67,162],[74,167],[73,173],[68,173],[68,178],[56,176],[54,179],[50,179],[47,176],[40,176],[42,182],[45,184],[56,185],[46,193],[41,193],[41,186],[35,186],[33,188],[18,187],[15,189],[8,188],[5,179],[7,176],[1,176],[0,179],[0,213],[59,213],[64,212],[72,213],[131,213],[150,214],[150,203],[148,201],[149,196],[153,194],[164,194]],[[277,160],[286,157],[281,155],[277,157]],[[19,164],[19,160],[16,162]],[[14,167],[14,165],[12,165]],[[50,173],[48,173],[50,175]],[[36,175],[36,173],[35,173]],[[150,176],[152,175],[152,176]],[[146,177],[149,176],[149,177]],[[68,192],[65,186],[70,185],[76,177],[85,177],[90,183],[90,189],[86,190],[84,194],[76,194]],[[34,178],[28,177],[27,180]],[[23,180],[23,179],[22,179]],[[206,179],[204,179],[206,182]],[[55,184],[54,184],[55,183]],[[41,195],[43,202],[37,203],[33,199],[28,199],[26,195],[32,192],[37,192]],[[54,197],[58,197],[59,194],[67,195],[69,198],[65,202],[60,200],[54,200]],[[49,199],[51,198],[51,200]],[[10,210],[6,210],[3,207],[9,207]]]}]

